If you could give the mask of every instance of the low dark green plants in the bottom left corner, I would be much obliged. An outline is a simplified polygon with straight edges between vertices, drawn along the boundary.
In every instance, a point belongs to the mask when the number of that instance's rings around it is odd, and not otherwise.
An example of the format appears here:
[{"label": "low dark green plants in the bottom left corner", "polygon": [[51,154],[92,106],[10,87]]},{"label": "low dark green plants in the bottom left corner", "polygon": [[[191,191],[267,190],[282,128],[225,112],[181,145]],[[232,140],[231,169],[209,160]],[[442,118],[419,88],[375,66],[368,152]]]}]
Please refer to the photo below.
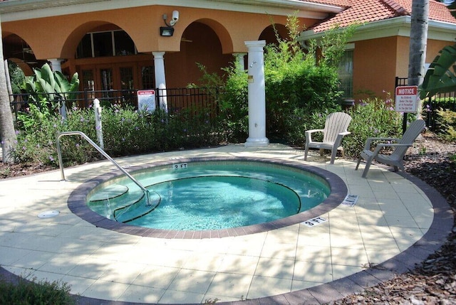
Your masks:
[{"label": "low dark green plants in the bottom left corner", "polygon": [[63,282],[31,282],[19,278],[19,282],[12,283],[0,279],[0,304],[14,305],[73,305],[76,297],[71,296],[70,287]]}]

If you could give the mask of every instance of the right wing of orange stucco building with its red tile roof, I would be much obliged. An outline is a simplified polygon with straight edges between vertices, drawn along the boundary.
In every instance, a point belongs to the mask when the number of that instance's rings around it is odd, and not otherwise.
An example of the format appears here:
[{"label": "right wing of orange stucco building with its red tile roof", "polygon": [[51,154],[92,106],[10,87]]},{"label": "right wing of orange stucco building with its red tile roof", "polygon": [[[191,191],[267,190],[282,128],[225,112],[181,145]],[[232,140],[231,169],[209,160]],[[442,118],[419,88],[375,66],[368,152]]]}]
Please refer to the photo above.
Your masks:
[{"label": "right wing of orange stucco building with its red tile roof", "polygon": [[[455,43],[456,19],[445,4],[430,0],[425,63]],[[301,40],[318,39],[333,26],[358,23],[346,46],[339,76],[347,97],[394,93],[395,77],[408,77],[412,0],[327,0],[345,9],[311,26]]]}]

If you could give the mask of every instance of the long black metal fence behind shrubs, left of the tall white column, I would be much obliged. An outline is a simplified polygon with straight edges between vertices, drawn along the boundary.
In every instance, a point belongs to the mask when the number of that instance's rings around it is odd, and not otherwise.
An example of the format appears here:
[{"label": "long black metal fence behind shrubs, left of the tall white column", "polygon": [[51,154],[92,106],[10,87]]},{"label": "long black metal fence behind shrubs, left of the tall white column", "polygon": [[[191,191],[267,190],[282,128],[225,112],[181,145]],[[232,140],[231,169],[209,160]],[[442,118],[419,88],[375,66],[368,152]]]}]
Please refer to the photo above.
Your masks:
[{"label": "long black metal fence behind shrubs, left of the tall white column", "polygon": [[[167,110],[170,114],[187,109],[191,113],[209,112],[210,117],[216,117],[219,113],[217,100],[224,92],[220,88],[167,88],[155,89],[155,107],[160,109],[160,105],[165,101]],[[67,107],[87,108],[93,104],[93,100],[100,100],[102,107],[110,105],[130,105],[138,108],[138,90],[84,90],[74,92],[75,98],[67,99]],[[38,103],[38,95],[27,93],[11,95],[11,109],[17,118],[18,112],[26,112],[29,104]],[[56,95],[41,95],[46,100],[58,102]]]}]

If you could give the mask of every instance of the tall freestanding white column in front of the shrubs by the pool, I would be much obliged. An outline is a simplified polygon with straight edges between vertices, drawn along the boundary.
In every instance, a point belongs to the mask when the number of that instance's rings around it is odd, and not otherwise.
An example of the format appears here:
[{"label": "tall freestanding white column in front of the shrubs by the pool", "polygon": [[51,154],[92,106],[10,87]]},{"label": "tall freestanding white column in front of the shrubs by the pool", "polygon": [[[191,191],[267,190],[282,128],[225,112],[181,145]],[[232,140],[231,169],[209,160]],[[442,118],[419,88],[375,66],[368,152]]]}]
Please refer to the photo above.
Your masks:
[{"label": "tall freestanding white column in front of the shrubs by the pool", "polygon": [[249,138],[244,146],[265,147],[266,138],[266,90],[264,87],[263,47],[266,41],[246,41],[249,49],[247,60],[249,80]]}]

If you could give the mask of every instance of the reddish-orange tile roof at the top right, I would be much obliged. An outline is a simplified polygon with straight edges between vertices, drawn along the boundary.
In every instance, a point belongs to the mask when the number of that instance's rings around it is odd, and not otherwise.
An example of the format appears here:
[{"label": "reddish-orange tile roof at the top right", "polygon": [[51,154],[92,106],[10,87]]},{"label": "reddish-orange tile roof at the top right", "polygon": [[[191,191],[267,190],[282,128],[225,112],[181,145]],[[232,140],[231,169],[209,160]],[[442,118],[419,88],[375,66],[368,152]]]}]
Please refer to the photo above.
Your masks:
[{"label": "reddish-orange tile roof at the top right", "polygon": [[[326,20],[309,28],[315,33],[327,31],[333,26],[348,26],[351,23],[367,23],[380,21],[398,16],[406,16],[412,12],[412,0],[308,0],[309,2],[331,4],[346,9],[330,16]],[[445,4],[430,0],[429,19],[456,23],[456,19],[450,14]]]}]

